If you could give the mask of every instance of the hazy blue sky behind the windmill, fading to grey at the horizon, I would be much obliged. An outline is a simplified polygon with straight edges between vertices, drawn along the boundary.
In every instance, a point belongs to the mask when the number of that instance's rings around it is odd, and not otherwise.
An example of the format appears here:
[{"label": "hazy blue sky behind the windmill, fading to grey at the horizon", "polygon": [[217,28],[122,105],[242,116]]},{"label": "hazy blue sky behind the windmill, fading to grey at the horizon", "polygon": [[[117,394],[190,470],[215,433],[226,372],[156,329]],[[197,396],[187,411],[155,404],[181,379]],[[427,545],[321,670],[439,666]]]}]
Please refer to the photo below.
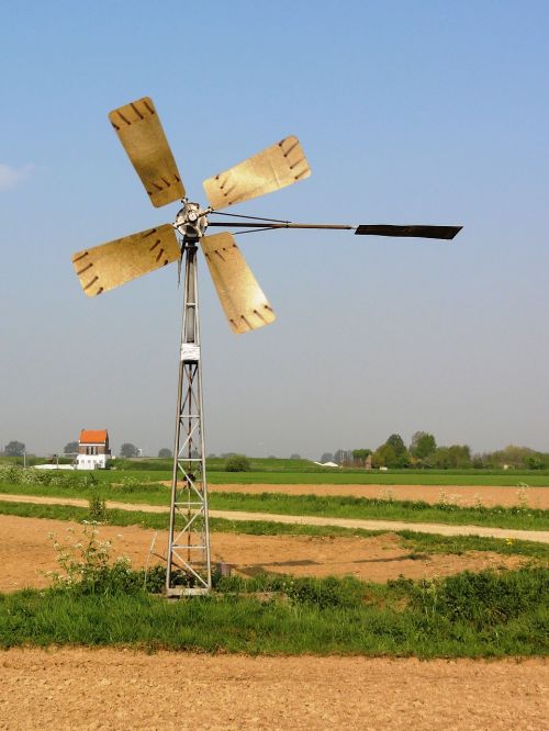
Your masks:
[{"label": "hazy blue sky behind the windmill, fading to grey at the horizon", "polygon": [[191,199],[295,134],[312,177],[238,212],[464,226],[243,237],[278,315],[245,336],[202,267],[209,452],[317,459],[417,429],[549,450],[548,37],[534,1],[4,0],[1,445],[172,445],[176,268],[88,300],[70,262],[175,217],[107,119],[150,95]]}]

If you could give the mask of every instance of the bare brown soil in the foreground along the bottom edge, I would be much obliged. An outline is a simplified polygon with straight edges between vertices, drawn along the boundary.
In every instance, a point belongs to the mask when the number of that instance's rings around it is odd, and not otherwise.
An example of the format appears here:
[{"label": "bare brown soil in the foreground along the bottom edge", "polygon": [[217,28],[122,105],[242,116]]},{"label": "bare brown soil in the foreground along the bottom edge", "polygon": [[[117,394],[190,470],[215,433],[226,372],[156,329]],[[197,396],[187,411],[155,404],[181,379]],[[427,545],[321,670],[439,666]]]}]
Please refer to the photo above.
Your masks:
[{"label": "bare brown soil in the foreground along the bottom edge", "polygon": [[0,729],[11,731],[547,728],[542,660],[10,650],[0,673]]}]

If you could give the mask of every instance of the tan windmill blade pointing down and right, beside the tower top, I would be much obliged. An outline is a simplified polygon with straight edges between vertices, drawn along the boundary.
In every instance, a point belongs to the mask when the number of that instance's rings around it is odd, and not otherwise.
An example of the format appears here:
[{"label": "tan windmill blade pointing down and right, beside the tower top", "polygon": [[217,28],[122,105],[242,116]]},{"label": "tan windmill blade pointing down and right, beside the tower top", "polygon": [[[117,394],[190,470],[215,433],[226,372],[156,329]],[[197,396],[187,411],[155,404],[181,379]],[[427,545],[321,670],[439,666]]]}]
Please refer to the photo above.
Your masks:
[{"label": "tan windmill blade pointing down and right, beside the tower top", "polygon": [[213,284],[233,333],[247,333],[276,316],[231,234],[200,239]]}]

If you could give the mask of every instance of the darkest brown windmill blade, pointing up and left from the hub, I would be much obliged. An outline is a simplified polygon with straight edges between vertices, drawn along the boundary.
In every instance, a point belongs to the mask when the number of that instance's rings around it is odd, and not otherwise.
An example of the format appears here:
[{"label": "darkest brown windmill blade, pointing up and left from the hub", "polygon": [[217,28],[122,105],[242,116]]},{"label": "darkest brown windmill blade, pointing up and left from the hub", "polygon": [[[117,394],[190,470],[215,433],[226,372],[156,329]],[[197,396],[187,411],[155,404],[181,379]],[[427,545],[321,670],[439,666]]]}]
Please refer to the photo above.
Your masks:
[{"label": "darkest brown windmill blade, pointing up and left from the hub", "polygon": [[160,207],[182,199],[184,187],[153,100],[144,97],[120,106],[109,120],[153,205]]}]

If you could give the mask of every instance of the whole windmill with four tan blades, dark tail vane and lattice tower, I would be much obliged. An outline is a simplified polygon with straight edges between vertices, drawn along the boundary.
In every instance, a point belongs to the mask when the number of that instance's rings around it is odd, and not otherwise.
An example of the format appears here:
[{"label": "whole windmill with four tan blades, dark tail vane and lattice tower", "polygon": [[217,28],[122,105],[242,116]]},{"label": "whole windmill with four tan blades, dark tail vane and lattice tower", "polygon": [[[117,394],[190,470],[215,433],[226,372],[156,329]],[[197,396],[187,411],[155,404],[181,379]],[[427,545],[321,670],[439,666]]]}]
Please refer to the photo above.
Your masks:
[{"label": "whole windmill with four tan blades, dark tail vane and lattice tower", "polygon": [[208,482],[202,419],[202,369],[197,279],[199,245],[221,305],[234,333],[274,320],[274,313],[228,232],[206,236],[209,227],[237,233],[305,228],[352,230],[361,236],[452,239],[461,226],[303,224],[261,216],[221,214],[222,209],[273,192],[311,175],[296,137],[281,139],[233,168],[204,180],[208,206],[188,200],[153,101],[146,97],[109,114],[112,126],[154,206],[181,201],[172,224],[131,234],[72,256],[88,296],[97,296],[184,258],[183,314],[177,391],[176,435],[167,550],[166,594],[208,593],[212,585]]}]

